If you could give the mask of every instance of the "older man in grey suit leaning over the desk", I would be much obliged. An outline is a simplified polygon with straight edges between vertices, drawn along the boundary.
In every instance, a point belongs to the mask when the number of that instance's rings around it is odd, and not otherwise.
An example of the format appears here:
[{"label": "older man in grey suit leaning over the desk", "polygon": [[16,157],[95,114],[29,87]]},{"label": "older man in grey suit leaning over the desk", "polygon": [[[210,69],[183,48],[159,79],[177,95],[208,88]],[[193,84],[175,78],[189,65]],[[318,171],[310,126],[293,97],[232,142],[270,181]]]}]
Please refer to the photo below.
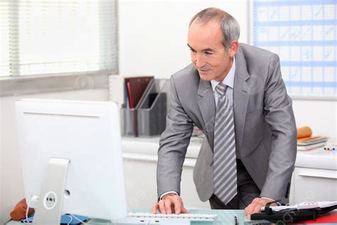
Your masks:
[{"label": "older man in grey suit leaning over the desk", "polygon": [[191,65],[171,76],[171,108],[158,152],[161,213],[186,213],[181,172],[193,124],[207,139],[193,178],[212,209],[245,209],[287,203],[296,158],[296,125],[281,77],[279,57],[238,43],[240,26],[209,8],[188,28]]}]

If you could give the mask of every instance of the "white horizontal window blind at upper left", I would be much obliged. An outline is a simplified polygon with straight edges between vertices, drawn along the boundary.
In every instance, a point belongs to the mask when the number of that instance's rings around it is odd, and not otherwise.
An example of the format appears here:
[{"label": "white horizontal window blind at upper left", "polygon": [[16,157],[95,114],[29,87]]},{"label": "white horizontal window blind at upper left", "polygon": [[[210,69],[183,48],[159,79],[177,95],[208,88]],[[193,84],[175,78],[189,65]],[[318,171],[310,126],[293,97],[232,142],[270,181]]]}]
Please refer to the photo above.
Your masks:
[{"label": "white horizontal window blind at upper left", "polygon": [[5,0],[0,16],[0,76],[118,72],[115,1]]}]

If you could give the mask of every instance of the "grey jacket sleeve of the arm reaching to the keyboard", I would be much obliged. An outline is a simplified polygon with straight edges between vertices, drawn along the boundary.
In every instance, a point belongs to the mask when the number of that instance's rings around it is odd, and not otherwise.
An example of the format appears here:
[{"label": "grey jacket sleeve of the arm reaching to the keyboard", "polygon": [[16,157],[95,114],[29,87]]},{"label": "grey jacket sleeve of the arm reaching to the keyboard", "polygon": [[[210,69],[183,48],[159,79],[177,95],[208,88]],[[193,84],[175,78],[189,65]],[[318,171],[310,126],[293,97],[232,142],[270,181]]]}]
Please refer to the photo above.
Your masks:
[{"label": "grey jacket sleeve of the arm reaching to the keyboard", "polygon": [[193,121],[183,110],[171,76],[171,105],[166,117],[166,130],[161,134],[157,164],[158,197],[165,192],[180,194],[180,182],[186,150],[193,132]]}]

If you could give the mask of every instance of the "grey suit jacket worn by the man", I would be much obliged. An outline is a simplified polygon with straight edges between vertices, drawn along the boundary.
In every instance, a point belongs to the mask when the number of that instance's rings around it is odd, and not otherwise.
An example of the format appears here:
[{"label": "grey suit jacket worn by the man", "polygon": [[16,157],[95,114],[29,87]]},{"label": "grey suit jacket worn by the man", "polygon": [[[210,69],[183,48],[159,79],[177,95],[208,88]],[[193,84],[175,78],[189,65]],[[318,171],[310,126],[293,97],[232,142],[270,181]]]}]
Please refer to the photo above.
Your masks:
[{"label": "grey suit jacket worn by the man", "polygon": [[[279,57],[240,44],[235,54],[235,145],[262,197],[287,203],[296,159],[296,124]],[[171,107],[158,151],[158,194],[180,194],[183,161],[196,124],[207,137],[193,172],[200,200],[213,194],[215,100],[193,64],[171,76]]]}]

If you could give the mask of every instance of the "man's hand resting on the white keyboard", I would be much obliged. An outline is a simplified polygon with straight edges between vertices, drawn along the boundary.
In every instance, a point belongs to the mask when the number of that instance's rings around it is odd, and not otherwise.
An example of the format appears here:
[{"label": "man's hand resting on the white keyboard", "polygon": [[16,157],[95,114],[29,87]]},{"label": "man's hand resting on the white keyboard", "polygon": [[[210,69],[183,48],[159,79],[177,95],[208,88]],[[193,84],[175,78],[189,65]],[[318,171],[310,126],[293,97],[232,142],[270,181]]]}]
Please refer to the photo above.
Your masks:
[{"label": "man's hand resting on the white keyboard", "polygon": [[158,203],[152,206],[152,213],[156,214],[159,209],[161,214],[188,214],[183,206],[183,200],[177,194],[166,194]]}]

